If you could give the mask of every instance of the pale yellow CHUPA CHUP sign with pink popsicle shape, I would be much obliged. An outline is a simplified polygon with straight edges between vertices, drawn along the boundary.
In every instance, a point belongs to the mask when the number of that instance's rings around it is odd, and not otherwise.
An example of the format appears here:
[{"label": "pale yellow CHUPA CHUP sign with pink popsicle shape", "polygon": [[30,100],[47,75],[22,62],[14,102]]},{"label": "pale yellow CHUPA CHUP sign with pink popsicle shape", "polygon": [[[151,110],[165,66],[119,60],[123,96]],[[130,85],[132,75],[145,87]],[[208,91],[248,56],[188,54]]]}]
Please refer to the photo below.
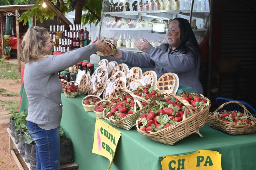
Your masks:
[{"label": "pale yellow CHUPA CHUP sign with pink popsicle shape", "polygon": [[120,137],[121,132],[102,120],[96,119],[92,153],[105,156],[109,159],[110,165],[108,170],[112,165]]}]

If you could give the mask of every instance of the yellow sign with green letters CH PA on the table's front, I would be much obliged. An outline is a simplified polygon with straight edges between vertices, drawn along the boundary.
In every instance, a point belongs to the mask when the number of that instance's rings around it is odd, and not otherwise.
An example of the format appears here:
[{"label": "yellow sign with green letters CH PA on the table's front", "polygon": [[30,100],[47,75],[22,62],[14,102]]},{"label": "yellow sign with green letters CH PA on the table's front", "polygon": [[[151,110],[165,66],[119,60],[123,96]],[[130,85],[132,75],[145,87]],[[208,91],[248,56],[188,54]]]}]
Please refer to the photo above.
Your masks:
[{"label": "yellow sign with green letters CH PA on the table's front", "polygon": [[198,150],[191,155],[164,156],[163,170],[221,170],[221,154],[212,150]]}]

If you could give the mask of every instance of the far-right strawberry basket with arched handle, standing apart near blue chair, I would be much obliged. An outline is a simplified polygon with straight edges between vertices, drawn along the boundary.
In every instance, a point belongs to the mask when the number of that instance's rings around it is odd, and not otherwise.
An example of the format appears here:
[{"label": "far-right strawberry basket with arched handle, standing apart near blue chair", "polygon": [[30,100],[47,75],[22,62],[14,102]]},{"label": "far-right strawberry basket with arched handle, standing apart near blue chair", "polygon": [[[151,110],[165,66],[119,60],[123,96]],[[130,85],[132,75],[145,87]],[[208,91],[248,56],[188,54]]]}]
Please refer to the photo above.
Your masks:
[{"label": "far-right strawberry basket with arched handle, standing apart near blue chair", "polygon": [[[228,104],[238,104],[243,107],[244,112],[221,110]],[[256,118],[246,109],[246,107],[237,101],[226,102],[219,106],[208,116],[209,126],[226,132],[230,135],[245,135],[256,132]]]}]

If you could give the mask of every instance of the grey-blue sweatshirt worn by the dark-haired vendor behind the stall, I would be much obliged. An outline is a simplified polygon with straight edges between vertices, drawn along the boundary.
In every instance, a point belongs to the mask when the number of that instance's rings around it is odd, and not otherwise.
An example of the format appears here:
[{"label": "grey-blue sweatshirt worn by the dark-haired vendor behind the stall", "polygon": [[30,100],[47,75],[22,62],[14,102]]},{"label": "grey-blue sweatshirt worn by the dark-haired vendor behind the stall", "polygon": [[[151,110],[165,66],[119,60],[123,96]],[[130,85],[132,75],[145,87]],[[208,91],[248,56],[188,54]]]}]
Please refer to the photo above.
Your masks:
[{"label": "grey-blue sweatshirt worn by the dark-haired vendor behind the stall", "polygon": [[145,53],[123,51],[122,55],[121,61],[129,66],[154,68],[158,79],[165,73],[175,73],[180,79],[180,85],[192,87],[196,93],[203,94],[199,81],[200,54],[189,41],[184,49],[172,51],[167,43],[156,48],[150,46]]}]

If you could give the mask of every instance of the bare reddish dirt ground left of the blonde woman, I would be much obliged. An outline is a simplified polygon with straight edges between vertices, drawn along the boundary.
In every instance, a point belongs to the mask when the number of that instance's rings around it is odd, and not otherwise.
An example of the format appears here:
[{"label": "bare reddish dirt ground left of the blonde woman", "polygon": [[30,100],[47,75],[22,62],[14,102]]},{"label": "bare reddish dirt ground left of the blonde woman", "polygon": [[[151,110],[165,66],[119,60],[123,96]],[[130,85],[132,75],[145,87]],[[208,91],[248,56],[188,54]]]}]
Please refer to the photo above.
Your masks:
[{"label": "bare reddish dirt ground left of the blonde woman", "polygon": [[[20,82],[17,80],[0,79],[0,88],[6,89],[6,92],[15,92],[19,94],[20,87]],[[7,100],[20,101],[20,97],[5,97],[0,95],[0,102]],[[6,131],[9,127],[8,117],[8,111],[0,106],[0,161],[3,162],[0,164],[0,169],[18,170],[13,157],[9,154],[9,135]]]}]

